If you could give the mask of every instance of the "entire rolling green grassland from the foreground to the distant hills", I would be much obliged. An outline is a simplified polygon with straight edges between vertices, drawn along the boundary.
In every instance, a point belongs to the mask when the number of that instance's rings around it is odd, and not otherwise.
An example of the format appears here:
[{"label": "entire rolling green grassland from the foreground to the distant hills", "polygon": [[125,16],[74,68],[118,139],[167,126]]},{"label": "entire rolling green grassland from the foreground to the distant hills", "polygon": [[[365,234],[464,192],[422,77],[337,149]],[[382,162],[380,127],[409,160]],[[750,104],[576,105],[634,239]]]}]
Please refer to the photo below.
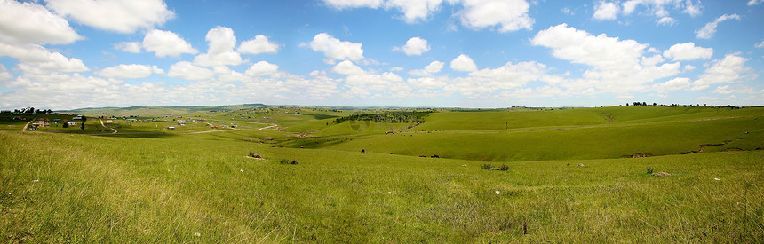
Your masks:
[{"label": "entire rolling green grassland from the foreground to the distant hills", "polygon": [[[0,242],[764,240],[759,107],[333,122],[353,113],[152,111],[135,115],[167,122],[120,120],[111,133],[89,119],[88,135],[0,116]],[[204,122],[163,129],[172,119]],[[716,146],[681,154],[701,145]],[[635,153],[652,156],[624,158]]]}]

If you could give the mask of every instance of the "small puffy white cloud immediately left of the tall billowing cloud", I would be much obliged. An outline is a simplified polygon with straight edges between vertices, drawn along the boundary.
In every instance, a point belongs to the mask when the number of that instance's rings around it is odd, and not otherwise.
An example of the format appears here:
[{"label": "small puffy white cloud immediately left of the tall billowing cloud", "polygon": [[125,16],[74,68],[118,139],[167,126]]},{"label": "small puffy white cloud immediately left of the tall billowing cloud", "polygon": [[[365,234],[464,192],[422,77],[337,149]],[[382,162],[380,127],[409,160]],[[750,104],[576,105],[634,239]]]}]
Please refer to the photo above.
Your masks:
[{"label": "small puffy white cloud immediately left of the tall billowing cloud", "polygon": [[180,54],[189,53],[196,54],[196,51],[191,44],[186,40],[180,38],[178,34],[172,33],[167,30],[153,29],[149,31],[143,38],[143,49],[146,51],[154,51],[156,57],[173,56],[178,57]]}]

